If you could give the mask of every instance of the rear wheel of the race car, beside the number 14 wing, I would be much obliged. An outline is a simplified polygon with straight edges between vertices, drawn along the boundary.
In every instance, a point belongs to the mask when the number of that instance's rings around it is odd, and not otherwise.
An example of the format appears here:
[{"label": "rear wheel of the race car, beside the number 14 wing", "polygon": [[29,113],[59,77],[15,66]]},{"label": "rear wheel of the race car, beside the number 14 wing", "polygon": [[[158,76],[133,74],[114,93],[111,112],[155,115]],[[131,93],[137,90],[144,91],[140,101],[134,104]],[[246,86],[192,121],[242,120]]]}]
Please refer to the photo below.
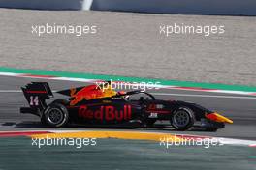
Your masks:
[{"label": "rear wheel of the race car, beside the number 14 wing", "polygon": [[69,113],[67,108],[60,103],[52,103],[44,112],[46,124],[52,128],[60,128],[67,125]]}]

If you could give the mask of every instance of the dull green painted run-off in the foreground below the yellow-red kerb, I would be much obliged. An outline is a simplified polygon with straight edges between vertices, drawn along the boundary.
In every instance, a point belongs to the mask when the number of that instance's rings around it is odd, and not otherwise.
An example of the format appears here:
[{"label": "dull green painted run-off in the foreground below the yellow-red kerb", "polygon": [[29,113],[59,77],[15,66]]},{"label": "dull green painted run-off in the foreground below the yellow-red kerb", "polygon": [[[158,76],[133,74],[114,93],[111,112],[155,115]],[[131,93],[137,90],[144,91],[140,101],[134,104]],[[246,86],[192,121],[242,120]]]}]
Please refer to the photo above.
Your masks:
[{"label": "dull green painted run-off in the foreground below the yellow-red kerb", "polygon": [[[31,146],[29,138],[1,138],[0,169],[225,169],[255,170],[255,148],[183,146],[166,149],[158,143],[99,139],[97,146]],[[14,163],[15,162],[15,163]]]}]

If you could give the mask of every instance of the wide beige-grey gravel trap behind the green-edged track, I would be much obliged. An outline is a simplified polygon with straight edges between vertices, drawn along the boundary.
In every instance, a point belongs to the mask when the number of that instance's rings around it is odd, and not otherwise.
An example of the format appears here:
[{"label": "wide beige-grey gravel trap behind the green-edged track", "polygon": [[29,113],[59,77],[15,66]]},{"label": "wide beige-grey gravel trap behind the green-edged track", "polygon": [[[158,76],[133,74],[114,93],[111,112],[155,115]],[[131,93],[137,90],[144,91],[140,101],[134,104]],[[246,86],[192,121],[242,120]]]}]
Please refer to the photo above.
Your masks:
[{"label": "wide beige-grey gravel trap behind the green-edged track", "polygon": [[[0,9],[0,66],[256,85],[256,17]],[[35,25],[98,33],[32,34]],[[224,25],[220,35],[159,34],[160,25]]]}]

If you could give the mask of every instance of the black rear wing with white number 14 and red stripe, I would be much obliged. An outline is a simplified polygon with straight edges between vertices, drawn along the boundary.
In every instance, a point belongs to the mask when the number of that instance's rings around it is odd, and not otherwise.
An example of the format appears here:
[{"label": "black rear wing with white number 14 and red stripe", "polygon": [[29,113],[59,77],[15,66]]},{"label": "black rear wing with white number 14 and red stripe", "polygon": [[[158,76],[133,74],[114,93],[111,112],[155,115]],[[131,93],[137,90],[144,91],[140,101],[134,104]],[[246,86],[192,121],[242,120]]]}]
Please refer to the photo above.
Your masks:
[{"label": "black rear wing with white number 14 and red stripe", "polygon": [[46,99],[53,98],[53,94],[47,82],[32,82],[21,90],[30,106],[30,108],[42,111],[47,107]]}]

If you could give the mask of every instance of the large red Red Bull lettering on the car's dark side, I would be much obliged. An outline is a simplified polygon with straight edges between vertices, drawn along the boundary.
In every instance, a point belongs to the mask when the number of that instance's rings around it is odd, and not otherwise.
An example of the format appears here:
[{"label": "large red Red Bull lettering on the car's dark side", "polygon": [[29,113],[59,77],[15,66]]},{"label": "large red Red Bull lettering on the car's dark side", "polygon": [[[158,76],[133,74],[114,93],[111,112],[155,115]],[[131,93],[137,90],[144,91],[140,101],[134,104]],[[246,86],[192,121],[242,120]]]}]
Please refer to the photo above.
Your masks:
[{"label": "large red Red Bull lettering on the car's dark side", "polygon": [[131,105],[124,105],[123,109],[117,110],[114,106],[101,106],[98,110],[90,110],[86,105],[80,106],[79,116],[86,119],[124,121],[132,119]]}]

